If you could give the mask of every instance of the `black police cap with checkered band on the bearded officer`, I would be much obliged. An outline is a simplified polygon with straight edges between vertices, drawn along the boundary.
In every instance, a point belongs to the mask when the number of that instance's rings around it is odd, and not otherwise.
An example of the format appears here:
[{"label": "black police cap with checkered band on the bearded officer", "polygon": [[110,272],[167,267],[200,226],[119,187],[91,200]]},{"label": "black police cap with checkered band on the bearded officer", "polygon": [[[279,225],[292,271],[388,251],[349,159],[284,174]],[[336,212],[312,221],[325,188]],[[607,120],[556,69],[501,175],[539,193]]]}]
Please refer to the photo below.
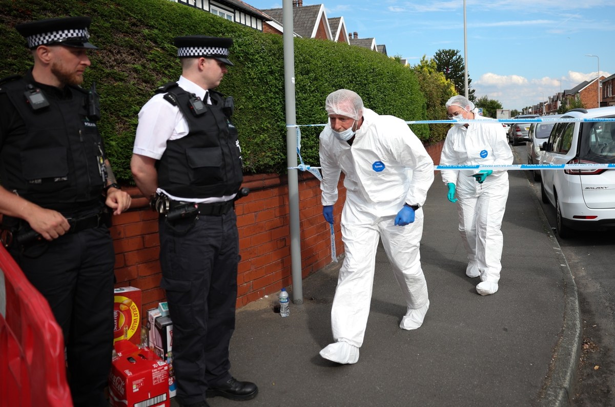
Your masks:
[{"label": "black police cap with checkered band on the bearded officer", "polygon": [[28,41],[30,49],[36,49],[39,45],[98,49],[89,42],[88,28],[90,17],[49,18],[15,26]]}]

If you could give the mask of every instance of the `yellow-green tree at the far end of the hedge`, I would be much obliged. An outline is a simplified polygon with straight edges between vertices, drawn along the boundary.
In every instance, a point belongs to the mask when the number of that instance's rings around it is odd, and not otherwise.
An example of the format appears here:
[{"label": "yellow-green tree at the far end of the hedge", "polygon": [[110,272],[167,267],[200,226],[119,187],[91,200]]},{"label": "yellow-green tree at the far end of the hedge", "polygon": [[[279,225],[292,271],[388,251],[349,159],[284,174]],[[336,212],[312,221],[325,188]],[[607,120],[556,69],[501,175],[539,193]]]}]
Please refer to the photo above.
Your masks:
[{"label": "yellow-green tree at the far end of the hedge", "polygon": [[[448,81],[444,74],[438,71],[435,60],[423,55],[421,61],[412,66],[416,79],[418,79],[421,92],[425,95],[427,117],[431,120],[446,119],[446,101],[455,95],[453,82]],[[429,124],[429,143],[444,140],[448,124]]]}]

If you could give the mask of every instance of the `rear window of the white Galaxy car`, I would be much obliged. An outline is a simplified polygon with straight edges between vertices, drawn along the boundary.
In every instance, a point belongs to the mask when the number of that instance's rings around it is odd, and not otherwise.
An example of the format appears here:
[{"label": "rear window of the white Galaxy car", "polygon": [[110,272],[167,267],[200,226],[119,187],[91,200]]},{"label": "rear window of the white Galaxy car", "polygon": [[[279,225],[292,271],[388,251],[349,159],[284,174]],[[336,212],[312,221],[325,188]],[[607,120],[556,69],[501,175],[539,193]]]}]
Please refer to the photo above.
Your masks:
[{"label": "rear window of the white Galaxy car", "polygon": [[581,158],[615,163],[615,122],[583,123],[581,135]]}]

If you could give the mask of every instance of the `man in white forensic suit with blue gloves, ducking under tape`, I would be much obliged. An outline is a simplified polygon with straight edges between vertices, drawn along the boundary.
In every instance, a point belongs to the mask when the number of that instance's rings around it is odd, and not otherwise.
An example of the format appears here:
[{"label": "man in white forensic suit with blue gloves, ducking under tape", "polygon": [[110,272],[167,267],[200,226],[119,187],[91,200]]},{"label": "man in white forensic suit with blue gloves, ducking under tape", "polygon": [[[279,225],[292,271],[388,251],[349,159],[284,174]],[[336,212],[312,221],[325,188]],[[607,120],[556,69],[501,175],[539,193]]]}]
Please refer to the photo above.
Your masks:
[{"label": "man in white forensic suit with blue gloves, ducking under tape", "polygon": [[414,330],[423,324],[429,298],[419,254],[421,206],[434,181],[434,162],[402,119],[364,108],[351,90],[328,95],[325,109],[329,123],[320,133],[323,216],[333,224],[339,175],[344,172],[341,231],[346,256],[331,308],[335,342],[320,355],[356,363],[370,314],[380,238],[407,304],[400,328]]}]

